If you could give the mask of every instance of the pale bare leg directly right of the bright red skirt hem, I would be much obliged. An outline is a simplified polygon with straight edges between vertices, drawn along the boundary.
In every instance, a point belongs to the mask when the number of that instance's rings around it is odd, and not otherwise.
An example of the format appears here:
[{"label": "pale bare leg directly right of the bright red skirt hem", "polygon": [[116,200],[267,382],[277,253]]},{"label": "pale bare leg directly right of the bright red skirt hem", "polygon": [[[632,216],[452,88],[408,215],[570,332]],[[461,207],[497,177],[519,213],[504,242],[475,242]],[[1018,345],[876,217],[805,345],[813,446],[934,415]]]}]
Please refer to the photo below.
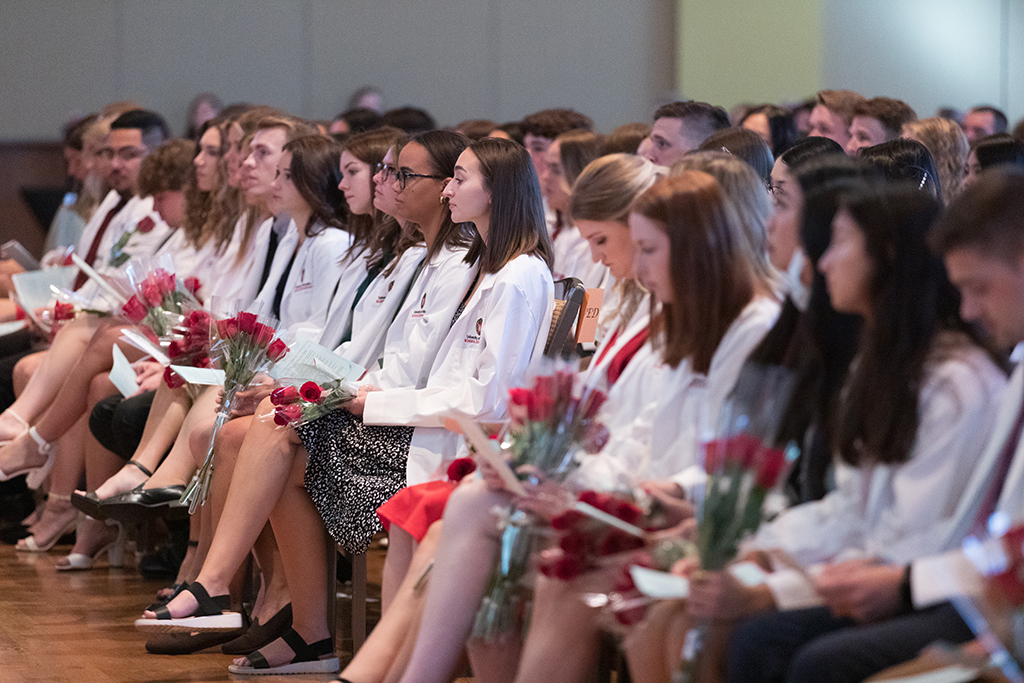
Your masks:
[{"label": "pale bare leg directly right of the bright red skirt hem", "polygon": [[[462,655],[500,543],[492,510],[509,499],[482,481],[461,484],[444,509],[423,623],[403,683],[445,683]],[[547,680],[545,677],[542,680]]]}]

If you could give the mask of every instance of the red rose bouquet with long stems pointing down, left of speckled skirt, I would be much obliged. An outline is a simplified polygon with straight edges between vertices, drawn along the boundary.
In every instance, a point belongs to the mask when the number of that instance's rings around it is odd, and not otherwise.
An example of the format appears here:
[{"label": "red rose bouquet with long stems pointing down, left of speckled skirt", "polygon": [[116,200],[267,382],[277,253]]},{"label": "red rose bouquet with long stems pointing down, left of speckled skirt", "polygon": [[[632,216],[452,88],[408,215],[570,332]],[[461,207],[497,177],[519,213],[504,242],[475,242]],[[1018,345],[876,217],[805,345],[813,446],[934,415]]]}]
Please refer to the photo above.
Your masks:
[{"label": "red rose bouquet with long stems pointing down, left of speckled skirt", "polygon": [[193,476],[181,496],[188,503],[188,511],[206,502],[206,494],[213,476],[213,445],[217,432],[231,417],[236,395],[249,387],[259,373],[265,373],[288,353],[288,344],[275,337],[276,319],[261,315],[259,311],[240,311],[238,315],[218,319],[210,327],[214,344],[210,355],[224,371],[224,393],[220,399],[203,465]]}]

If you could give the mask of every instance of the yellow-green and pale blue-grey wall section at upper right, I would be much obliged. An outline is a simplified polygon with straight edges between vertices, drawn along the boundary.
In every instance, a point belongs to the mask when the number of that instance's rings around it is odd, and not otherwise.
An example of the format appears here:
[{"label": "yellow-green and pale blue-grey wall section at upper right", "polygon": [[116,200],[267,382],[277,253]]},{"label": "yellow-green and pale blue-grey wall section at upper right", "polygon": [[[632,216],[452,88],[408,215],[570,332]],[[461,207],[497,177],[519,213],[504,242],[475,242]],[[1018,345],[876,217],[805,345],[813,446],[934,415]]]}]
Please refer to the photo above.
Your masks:
[{"label": "yellow-green and pale blue-grey wall section at upper right", "polygon": [[678,0],[679,89],[732,106],[821,88],[920,116],[991,103],[1024,116],[1020,0]]}]

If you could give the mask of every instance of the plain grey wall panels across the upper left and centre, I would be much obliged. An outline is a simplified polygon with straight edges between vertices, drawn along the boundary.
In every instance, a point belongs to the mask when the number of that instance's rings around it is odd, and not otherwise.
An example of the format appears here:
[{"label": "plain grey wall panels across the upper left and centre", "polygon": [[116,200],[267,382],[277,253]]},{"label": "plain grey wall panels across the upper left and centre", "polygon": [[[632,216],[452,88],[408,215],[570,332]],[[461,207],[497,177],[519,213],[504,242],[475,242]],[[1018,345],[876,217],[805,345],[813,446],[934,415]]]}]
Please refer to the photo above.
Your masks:
[{"label": "plain grey wall panels across the upper left and centre", "polygon": [[187,101],[331,118],[380,86],[442,125],[568,105],[610,129],[675,82],[676,0],[2,0],[0,139],[136,98],[177,131]]}]

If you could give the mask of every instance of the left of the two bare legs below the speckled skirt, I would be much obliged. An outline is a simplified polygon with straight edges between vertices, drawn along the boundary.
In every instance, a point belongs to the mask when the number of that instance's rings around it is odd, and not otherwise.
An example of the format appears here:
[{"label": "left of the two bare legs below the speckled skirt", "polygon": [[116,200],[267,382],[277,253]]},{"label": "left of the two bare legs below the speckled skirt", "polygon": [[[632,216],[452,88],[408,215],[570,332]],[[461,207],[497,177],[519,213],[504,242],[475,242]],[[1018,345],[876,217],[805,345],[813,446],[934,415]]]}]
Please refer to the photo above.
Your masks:
[{"label": "left of the two bare legs below the speckled skirt", "polygon": [[[273,405],[267,399],[260,403],[256,414],[268,416],[272,412]],[[231,478],[224,513],[214,531],[203,569],[197,577],[210,595],[227,593],[231,578],[263,530],[270,511],[288,485],[298,452],[297,439],[294,431],[278,427],[272,419],[259,417],[246,432],[236,463],[238,475]],[[174,616],[190,614],[196,607],[196,599],[189,593],[168,603]],[[154,618],[156,614],[146,612],[144,616]]]}]

